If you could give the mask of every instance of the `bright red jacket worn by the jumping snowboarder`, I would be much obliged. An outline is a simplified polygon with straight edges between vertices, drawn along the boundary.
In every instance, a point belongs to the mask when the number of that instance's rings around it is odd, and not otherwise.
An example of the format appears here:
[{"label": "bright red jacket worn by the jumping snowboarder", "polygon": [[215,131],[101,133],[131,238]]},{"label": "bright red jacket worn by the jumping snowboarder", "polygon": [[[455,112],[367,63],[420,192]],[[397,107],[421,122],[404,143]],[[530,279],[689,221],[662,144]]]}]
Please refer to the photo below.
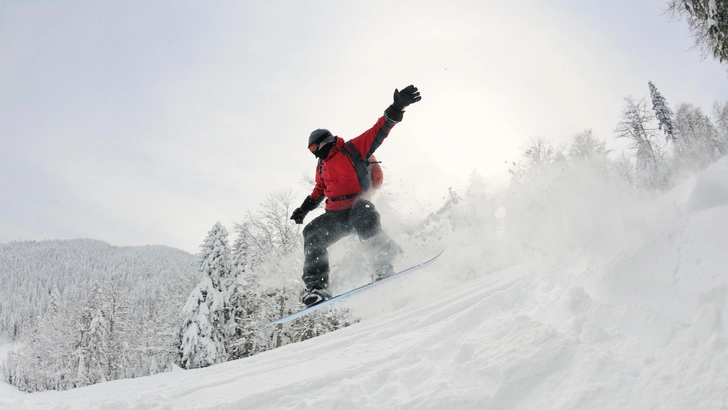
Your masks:
[{"label": "bright red jacket worn by the jumping snowboarder", "polygon": [[[372,128],[352,139],[351,143],[362,158],[369,158],[382,145],[395,124],[395,121],[383,116]],[[328,198],[326,200],[327,211],[351,208],[357,199],[354,196],[367,194],[361,192],[351,159],[341,151],[345,144],[344,139],[336,137],[334,144],[326,159],[319,161],[316,166],[316,186],[311,193],[311,198],[316,201],[320,200],[322,196]],[[372,158],[371,161],[374,159]],[[372,165],[369,174],[372,177],[372,186],[376,188],[381,185],[382,170],[379,168],[379,164]]]}]

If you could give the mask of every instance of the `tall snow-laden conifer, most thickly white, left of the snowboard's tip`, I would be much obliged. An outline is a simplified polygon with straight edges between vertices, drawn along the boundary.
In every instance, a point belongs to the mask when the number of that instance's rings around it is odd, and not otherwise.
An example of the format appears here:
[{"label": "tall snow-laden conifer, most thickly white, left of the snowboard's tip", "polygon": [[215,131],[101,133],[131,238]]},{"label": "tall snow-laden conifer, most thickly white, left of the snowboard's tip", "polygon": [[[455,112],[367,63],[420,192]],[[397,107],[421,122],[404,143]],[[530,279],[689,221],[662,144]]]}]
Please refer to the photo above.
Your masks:
[{"label": "tall snow-laden conifer, most thickly white, left of the snowboard's tip", "polygon": [[230,292],[233,286],[227,230],[217,222],[200,246],[202,280],[183,308],[180,364],[186,369],[224,362],[231,326]]}]

